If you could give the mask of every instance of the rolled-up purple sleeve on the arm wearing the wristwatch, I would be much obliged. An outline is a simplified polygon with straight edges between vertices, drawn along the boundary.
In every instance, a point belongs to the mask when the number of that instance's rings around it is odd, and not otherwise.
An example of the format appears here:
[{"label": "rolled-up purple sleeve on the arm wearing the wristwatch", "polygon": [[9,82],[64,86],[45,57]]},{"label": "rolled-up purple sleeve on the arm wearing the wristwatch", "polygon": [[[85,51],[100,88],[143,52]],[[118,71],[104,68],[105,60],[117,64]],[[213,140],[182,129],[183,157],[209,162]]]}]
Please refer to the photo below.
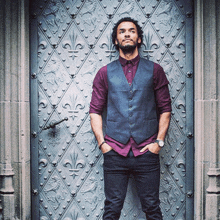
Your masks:
[{"label": "rolled-up purple sleeve on the arm wearing the wristwatch", "polygon": [[171,99],[168,87],[169,81],[163,68],[159,64],[154,64],[154,92],[159,114],[171,112]]}]

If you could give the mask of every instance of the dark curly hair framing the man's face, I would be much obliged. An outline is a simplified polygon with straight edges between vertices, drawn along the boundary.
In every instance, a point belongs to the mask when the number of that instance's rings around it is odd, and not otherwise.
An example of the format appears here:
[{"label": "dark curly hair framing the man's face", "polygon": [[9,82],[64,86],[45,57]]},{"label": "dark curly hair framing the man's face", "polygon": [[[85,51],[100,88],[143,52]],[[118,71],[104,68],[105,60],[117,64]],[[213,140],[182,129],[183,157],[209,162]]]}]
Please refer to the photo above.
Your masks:
[{"label": "dark curly hair framing the man's face", "polygon": [[119,24],[121,24],[124,21],[129,21],[132,22],[133,24],[135,24],[136,28],[137,28],[137,32],[138,32],[138,37],[141,39],[141,43],[138,43],[138,48],[141,47],[142,41],[143,41],[143,31],[141,26],[138,24],[138,22],[136,20],[134,20],[133,18],[130,17],[125,17],[125,18],[121,18],[113,27],[113,31],[112,31],[112,43],[115,45],[116,49],[118,50],[119,47],[118,45],[115,44],[115,40],[117,38],[117,29]]}]

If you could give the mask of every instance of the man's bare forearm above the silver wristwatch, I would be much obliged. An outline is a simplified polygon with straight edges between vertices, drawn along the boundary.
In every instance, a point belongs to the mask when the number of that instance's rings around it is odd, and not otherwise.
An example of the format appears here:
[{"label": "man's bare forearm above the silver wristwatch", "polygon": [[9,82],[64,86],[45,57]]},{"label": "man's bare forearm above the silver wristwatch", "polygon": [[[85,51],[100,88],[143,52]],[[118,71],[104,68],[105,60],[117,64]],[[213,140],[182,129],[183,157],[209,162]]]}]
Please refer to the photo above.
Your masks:
[{"label": "man's bare forearm above the silver wristwatch", "polygon": [[171,117],[170,112],[164,112],[160,115],[159,130],[158,130],[158,135],[157,135],[158,140],[163,140],[164,141],[167,130],[169,128],[170,117]]}]

